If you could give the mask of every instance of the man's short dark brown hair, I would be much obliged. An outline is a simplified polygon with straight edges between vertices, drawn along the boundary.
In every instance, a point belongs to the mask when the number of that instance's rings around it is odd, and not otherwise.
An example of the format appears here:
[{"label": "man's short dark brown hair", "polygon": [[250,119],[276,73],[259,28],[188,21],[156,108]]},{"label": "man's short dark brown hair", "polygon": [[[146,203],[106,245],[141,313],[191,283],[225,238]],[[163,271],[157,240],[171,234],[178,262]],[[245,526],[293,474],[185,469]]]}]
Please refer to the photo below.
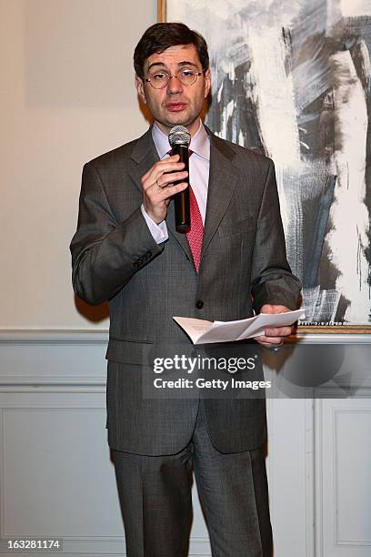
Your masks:
[{"label": "man's short dark brown hair", "polygon": [[145,78],[145,60],[155,54],[164,52],[169,46],[194,45],[200,59],[202,69],[209,66],[209,56],[205,38],[181,23],[158,23],[151,25],[135,46],[135,74]]}]

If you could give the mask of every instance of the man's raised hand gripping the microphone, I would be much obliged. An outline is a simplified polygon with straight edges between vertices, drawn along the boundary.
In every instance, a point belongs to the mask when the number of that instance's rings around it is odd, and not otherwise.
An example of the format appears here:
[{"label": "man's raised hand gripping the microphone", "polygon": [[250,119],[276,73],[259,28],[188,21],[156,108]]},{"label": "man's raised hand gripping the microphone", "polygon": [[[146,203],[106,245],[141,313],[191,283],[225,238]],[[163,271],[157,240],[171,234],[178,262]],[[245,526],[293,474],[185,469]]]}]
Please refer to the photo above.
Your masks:
[{"label": "man's raised hand gripping the microphone", "polygon": [[179,155],[159,160],[142,177],[145,212],[156,224],[165,220],[170,198],[188,186],[186,182],[173,185],[188,176],[186,170],[183,170],[185,163],[178,160]]}]

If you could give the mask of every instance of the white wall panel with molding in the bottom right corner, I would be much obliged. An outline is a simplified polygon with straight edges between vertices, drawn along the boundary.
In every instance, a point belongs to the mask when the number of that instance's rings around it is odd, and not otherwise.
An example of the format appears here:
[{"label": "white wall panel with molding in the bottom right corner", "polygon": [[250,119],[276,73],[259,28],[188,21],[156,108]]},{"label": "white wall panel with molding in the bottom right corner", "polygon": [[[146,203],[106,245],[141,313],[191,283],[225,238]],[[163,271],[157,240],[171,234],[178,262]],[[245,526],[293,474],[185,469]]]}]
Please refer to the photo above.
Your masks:
[{"label": "white wall panel with molding in the bottom right corner", "polygon": [[371,400],[316,400],[316,557],[369,557]]}]

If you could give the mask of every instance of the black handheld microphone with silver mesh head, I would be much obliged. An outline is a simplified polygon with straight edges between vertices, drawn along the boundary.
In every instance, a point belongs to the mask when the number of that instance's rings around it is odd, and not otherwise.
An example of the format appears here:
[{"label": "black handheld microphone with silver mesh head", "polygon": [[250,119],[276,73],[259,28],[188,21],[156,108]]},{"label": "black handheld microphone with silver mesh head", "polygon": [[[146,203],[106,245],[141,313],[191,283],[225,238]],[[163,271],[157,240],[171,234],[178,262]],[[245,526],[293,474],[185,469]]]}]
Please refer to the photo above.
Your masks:
[{"label": "black handheld microphone with silver mesh head", "polygon": [[[169,133],[169,143],[173,150],[173,155],[179,155],[179,162],[185,163],[185,170],[188,172],[189,184],[189,161],[188,146],[191,142],[191,134],[185,126],[172,127]],[[184,180],[178,180],[179,184]],[[174,196],[175,208],[175,229],[177,232],[185,234],[191,228],[191,214],[189,209],[189,186],[183,191],[179,191]]]}]

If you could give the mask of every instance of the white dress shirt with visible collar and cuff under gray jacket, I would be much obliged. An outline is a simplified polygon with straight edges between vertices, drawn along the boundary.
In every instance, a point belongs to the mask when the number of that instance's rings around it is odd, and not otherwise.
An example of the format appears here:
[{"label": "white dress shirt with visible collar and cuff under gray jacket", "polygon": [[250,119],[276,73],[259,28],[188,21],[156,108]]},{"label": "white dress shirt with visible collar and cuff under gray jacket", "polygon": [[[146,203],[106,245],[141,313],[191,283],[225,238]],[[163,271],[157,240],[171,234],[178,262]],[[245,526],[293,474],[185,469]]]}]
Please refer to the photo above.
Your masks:
[{"label": "white dress shirt with visible collar and cuff under gray jacket", "polygon": [[[168,137],[156,124],[152,127],[152,138],[155,143],[158,157],[160,157],[161,160],[164,160],[169,156],[168,152],[171,147]],[[189,157],[189,180],[195,193],[198,208],[200,209],[202,222],[205,226],[207,188],[210,169],[210,139],[201,120],[195,136],[191,137],[189,148],[193,151],[192,157]],[[147,223],[147,226],[157,244],[164,242],[168,238],[165,220],[157,225],[155,221],[147,215],[143,204],[141,209],[145,222]]]}]

